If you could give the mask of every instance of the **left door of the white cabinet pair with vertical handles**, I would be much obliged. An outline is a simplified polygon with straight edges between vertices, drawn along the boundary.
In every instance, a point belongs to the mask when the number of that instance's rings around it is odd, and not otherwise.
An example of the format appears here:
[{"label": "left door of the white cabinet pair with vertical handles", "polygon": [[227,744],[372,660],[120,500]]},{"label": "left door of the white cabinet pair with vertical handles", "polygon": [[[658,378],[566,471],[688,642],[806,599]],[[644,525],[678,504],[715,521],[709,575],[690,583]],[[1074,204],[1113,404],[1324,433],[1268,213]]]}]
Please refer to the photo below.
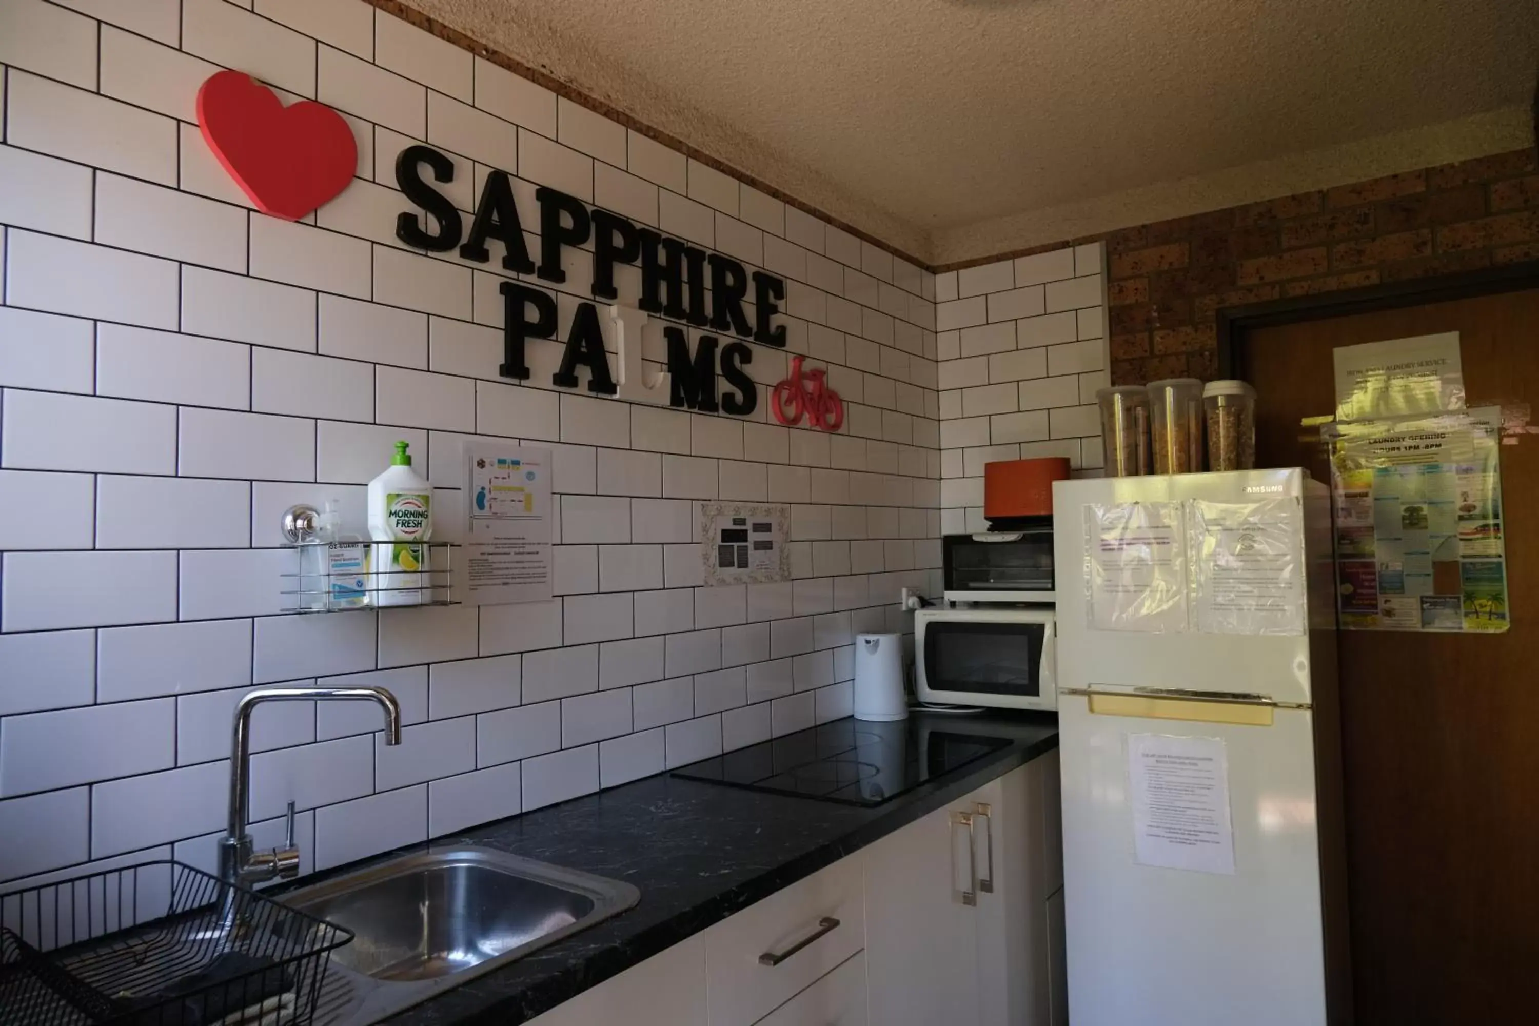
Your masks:
[{"label": "left door of the white cabinet pair with vertical handles", "polygon": [[966,829],[954,803],[871,844],[866,852],[866,983],[880,1026],[976,1026],[977,909]]}]

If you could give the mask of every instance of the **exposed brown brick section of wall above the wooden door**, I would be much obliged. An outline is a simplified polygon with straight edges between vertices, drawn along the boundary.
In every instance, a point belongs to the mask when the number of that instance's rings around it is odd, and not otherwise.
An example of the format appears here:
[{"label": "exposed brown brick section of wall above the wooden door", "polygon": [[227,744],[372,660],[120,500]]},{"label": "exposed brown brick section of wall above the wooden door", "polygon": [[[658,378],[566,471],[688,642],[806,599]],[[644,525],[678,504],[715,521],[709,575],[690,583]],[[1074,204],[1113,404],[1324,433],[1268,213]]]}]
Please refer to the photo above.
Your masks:
[{"label": "exposed brown brick section of wall above the wooden door", "polygon": [[1097,238],[1113,383],[1207,380],[1220,308],[1539,260],[1539,174],[1521,149]]}]

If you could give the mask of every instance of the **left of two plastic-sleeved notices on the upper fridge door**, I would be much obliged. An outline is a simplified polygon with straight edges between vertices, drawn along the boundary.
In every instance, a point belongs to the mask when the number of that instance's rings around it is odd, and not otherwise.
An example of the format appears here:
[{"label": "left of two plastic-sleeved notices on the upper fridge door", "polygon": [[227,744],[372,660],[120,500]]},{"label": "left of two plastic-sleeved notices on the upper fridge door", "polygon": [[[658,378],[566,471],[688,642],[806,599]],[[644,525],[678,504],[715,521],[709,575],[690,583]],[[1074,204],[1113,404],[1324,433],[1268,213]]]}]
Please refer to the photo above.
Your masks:
[{"label": "left of two plastic-sleeved notices on the upper fridge door", "polygon": [[1185,631],[1179,503],[1085,506],[1085,612],[1093,631]]}]

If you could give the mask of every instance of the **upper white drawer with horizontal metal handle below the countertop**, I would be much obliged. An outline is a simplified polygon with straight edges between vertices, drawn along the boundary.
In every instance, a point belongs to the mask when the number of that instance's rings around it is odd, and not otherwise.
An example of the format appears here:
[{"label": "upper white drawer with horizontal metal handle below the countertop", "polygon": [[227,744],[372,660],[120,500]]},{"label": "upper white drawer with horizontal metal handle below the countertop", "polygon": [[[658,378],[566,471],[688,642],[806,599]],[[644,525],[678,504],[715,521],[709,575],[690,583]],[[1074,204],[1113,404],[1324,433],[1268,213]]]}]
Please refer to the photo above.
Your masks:
[{"label": "upper white drawer with horizontal metal handle below the countertop", "polygon": [[865,948],[860,857],[748,906],[703,937],[711,1026],[757,1023]]}]

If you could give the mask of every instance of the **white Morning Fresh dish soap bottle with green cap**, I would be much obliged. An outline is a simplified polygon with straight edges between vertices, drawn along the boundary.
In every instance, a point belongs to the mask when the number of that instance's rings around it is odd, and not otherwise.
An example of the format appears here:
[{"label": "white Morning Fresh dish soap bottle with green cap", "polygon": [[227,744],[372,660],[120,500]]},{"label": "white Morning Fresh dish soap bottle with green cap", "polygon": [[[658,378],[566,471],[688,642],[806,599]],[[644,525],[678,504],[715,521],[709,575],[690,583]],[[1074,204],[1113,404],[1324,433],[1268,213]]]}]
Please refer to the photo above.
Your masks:
[{"label": "white Morning Fresh dish soap bottle with green cap", "polygon": [[432,486],[411,469],[408,443],[396,443],[389,468],[369,481],[369,537],[374,538],[376,606],[419,606],[431,585]]}]

